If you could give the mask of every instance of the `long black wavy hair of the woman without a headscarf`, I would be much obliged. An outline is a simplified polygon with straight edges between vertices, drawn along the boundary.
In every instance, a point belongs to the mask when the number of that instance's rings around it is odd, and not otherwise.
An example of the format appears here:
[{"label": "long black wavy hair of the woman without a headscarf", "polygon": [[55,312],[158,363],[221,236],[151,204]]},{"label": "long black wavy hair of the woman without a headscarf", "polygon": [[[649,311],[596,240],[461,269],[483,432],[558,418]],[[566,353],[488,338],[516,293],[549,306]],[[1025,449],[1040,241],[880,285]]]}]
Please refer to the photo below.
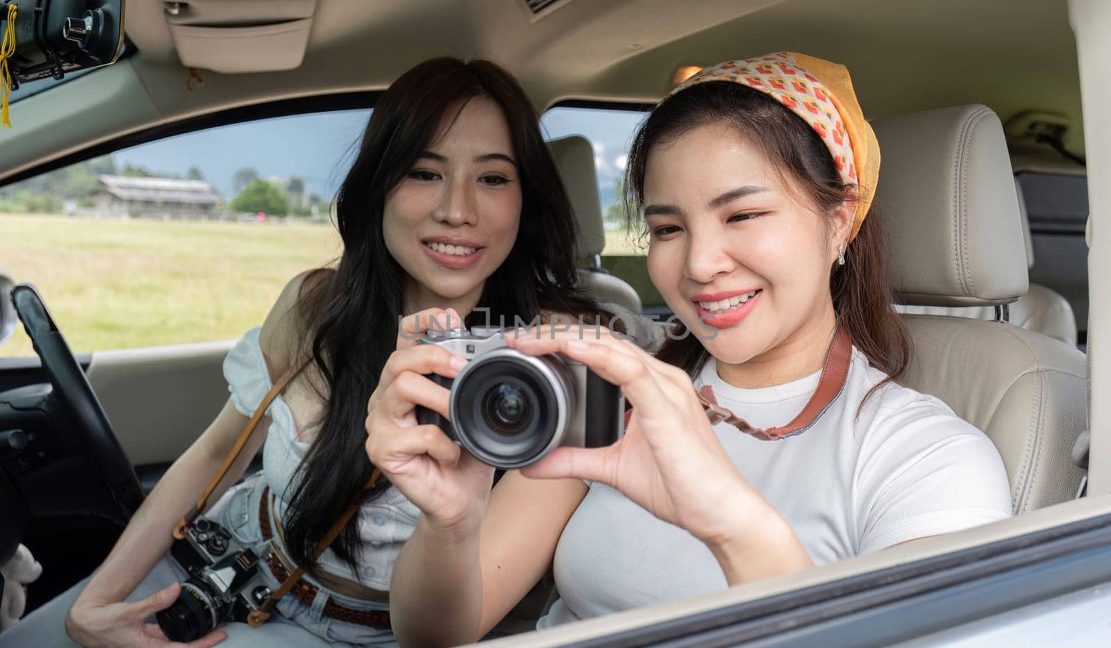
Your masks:
[{"label": "long black wavy hair of the woman without a headscarf", "polygon": [[[492,322],[526,321],[544,312],[584,318],[598,305],[577,292],[577,227],[559,170],[540,132],[536,109],[507,71],[489,61],[438,58],[402,74],[382,94],[362,137],[359,154],[337,197],[343,253],[334,270],[321,269],[302,283],[298,301],[304,353],[312,355],[327,387],[319,433],[304,456],[286,516],[286,542],[298,565],[312,567],[312,550],[354,502],[381,494],[381,480],[362,488],[372,466],[363,445],[367,399],[398,336],[406,272],[382,236],[386,197],[429,149],[440,127],[467,101],[488,97],[504,113],[521,179],[521,222],[509,257],[486,282],[479,308]],[[468,325],[484,323],[478,311]],[[308,343],[311,340],[311,345]],[[359,564],[359,516],[332,542],[352,568]]]}]

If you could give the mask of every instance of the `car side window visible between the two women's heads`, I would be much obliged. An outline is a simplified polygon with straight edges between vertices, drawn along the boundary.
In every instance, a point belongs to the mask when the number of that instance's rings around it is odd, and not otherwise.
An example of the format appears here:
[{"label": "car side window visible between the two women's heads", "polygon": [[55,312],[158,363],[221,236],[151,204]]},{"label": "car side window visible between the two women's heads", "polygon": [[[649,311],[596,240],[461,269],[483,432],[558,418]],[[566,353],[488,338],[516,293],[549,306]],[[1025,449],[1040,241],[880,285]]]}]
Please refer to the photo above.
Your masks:
[{"label": "car side window visible between the two women's heads", "polygon": [[593,144],[598,195],[605,219],[602,267],[635,288],[644,310],[653,312],[663,305],[663,298],[648,277],[647,242],[638,232],[624,228],[621,199],[629,149],[645,117],[642,110],[558,106],[544,113],[541,124],[549,139],[580,134]]}]

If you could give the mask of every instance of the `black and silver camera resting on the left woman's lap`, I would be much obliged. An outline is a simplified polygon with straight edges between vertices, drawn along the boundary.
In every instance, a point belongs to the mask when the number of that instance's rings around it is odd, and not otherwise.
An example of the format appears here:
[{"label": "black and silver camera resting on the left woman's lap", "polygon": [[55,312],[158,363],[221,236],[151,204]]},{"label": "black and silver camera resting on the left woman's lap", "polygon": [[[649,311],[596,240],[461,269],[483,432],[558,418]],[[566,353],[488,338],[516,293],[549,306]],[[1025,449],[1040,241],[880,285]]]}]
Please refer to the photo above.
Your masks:
[{"label": "black and silver camera resting on the left woman's lap", "polygon": [[246,621],[270,596],[258,555],[211,520],[198,519],[170,554],[189,572],[178,600],[154,615],[171,641],[192,641],[224,621]]}]

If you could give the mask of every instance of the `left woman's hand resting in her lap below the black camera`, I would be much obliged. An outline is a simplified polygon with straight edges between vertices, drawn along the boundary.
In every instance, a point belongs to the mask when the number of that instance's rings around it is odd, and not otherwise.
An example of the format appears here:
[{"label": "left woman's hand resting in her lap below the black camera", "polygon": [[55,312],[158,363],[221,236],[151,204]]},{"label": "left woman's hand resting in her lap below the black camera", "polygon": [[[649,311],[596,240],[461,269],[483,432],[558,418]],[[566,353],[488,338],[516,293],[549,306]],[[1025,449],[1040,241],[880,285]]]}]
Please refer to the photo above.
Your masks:
[{"label": "left woman's hand resting in her lap below the black camera", "polygon": [[158,624],[148,624],[154,612],[164,610],[178,600],[181,585],[157,591],[136,602],[98,604],[78,597],[66,615],[66,632],[71,639],[88,648],[179,646],[208,648],[223,641],[228,636],[223,630],[212,630],[196,641],[180,644],[170,641]]}]

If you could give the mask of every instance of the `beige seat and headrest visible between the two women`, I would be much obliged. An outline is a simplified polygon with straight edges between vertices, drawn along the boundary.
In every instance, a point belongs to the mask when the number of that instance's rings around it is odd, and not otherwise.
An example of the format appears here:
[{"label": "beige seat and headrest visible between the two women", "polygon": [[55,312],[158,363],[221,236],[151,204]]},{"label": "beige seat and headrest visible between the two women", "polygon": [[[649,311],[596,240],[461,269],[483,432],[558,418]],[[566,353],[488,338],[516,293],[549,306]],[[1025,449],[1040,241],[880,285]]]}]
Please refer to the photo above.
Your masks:
[{"label": "beige seat and headrest visible between the two women", "polygon": [[598,198],[594,148],[585,138],[570,136],[548,142],[548,150],[559,167],[579,223],[579,281],[588,295],[621,318],[638,345],[649,350],[659,348],[663,329],[641,317],[643,309],[637,290],[602,268],[605,228]]}]

